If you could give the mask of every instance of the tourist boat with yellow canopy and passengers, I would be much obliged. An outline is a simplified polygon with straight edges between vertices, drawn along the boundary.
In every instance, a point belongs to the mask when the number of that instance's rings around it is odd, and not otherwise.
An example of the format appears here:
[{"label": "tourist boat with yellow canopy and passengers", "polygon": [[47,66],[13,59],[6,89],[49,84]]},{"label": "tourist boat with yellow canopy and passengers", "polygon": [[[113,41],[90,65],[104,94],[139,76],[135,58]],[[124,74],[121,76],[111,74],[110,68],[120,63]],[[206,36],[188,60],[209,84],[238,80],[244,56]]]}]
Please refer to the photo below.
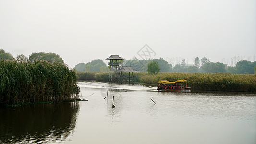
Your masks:
[{"label": "tourist boat with yellow canopy and passengers", "polygon": [[[182,85],[186,82],[185,85]],[[190,92],[190,87],[187,87],[187,80],[177,80],[175,82],[169,82],[167,80],[162,80],[158,82],[158,91],[179,91],[179,92]]]}]

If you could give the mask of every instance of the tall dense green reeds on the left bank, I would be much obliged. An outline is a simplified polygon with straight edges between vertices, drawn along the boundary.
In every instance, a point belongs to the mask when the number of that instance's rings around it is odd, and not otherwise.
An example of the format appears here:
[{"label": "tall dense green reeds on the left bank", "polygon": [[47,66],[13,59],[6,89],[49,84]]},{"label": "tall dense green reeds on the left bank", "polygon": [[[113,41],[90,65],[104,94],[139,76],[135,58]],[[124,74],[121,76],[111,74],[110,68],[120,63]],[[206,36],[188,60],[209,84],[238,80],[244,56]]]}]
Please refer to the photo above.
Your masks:
[{"label": "tall dense green reeds on the left bank", "polygon": [[78,98],[75,72],[59,62],[0,60],[0,104]]}]

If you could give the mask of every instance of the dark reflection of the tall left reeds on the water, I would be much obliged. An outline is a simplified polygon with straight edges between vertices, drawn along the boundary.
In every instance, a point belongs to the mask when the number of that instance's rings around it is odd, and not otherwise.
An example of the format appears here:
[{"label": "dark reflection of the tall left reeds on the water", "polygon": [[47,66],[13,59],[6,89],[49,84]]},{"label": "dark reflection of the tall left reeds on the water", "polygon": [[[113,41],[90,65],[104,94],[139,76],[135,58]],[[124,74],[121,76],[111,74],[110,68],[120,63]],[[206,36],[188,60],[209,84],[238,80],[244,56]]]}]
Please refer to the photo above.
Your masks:
[{"label": "dark reflection of the tall left reeds on the water", "polygon": [[59,143],[74,132],[78,102],[0,108],[0,143]]}]

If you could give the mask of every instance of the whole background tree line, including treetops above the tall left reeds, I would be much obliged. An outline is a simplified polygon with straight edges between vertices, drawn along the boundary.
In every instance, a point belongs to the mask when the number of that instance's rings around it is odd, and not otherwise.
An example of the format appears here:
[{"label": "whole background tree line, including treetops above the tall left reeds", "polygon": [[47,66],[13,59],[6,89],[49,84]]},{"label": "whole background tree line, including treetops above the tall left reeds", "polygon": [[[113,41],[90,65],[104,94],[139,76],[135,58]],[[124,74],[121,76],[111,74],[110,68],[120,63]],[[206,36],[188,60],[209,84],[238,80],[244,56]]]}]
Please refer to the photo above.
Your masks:
[{"label": "whole background tree line, including treetops above the tall left reeds", "polygon": [[[46,60],[50,63],[54,61],[57,62],[64,62],[60,55],[55,53],[45,53],[45,52],[38,52],[32,53],[29,57],[24,56],[23,54],[18,54],[16,58],[12,56],[11,53],[5,52],[3,49],[0,49],[0,60],[17,60],[17,61],[24,61],[33,62],[34,60]],[[159,72],[184,72],[184,73],[216,73],[216,72],[228,72],[228,73],[237,73],[237,74],[254,74],[256,72],[256,61],[250,62],[247,60],[241,60],[236,63],[234,67],[228,67],[227,65],[221,62],[210,62],[209,59],[203,57],[200,59],[196,57],[194,60],[194,65],[186,64],[185,59],[181,60],[180,64],[176,64],[174,67],[172,64],[169,64],[163,58],[159,59],[148,59],[148,60],[139,60],[138,58],[134,57],[130,60],[122,60],[123,66],[132,66],[135,70],[140,72],[148,72],[148,64],[150,62],[156,61],[160,68]],[[109,67],[103,60],[96,59],[92,60],[88,63],[79,63],[75,66],[77,71],[82,72],[108,72]]]}]

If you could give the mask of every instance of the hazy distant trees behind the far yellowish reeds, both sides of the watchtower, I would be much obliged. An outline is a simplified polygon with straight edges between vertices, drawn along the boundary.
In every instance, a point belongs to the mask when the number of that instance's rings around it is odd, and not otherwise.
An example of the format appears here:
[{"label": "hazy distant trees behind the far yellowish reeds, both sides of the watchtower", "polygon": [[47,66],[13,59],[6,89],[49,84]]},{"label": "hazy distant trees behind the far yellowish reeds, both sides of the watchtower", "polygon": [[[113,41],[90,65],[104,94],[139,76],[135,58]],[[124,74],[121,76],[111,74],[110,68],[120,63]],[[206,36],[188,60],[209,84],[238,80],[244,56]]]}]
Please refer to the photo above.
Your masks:
[{"label": "hazy distant trees behind the far yellowish reeds, both sides of the watchtower", "polygon": [[[154,63],[152,63],[154,62]],[[148,70],[148,64],[150,65],[150,70]],[[228,72],[228,73],[237,73],[237,74],[254,74],[256,61],[250,62],[247,60],[241,60],[236,63],[235,67],[228,67],[227,65],[221,62],[211,62],[208,58],[203,57],[200,59],[196,57],[193,65],[186,64],[185,59],[181,60],[180,64],[176,64],[172,67],[172,64],[169,64],[163,58],[159,59],[147,59],[139,60],[134,57],[130,60],[124,59],[122,61],[123,66],[132,66],[135,70],[140,72],[149,72],[151,74],[158,72],[184,72],[184,73],[218,73],[218,72]],[[158,70],[158,67],[160,70]],[[84,72],[108,72],[109,67],[103,62],[103,60],[96,59],[88,63],[79,63],[75,66],[77,71]]]}]

